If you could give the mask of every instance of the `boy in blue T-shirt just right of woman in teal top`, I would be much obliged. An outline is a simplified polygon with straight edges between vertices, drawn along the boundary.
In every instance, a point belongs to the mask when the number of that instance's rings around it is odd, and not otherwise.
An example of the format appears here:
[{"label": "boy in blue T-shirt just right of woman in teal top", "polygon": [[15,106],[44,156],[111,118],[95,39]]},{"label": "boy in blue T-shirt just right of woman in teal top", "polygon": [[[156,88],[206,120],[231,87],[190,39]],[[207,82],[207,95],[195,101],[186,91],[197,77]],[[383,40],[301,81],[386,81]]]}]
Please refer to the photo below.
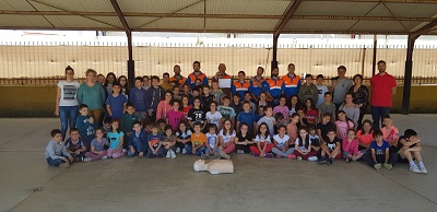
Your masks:
[{"label": "boy in blue T-shirt just right of woman in teal top", "polygon": [[113,94],[106,98],[106,111],[113,119],[121,119],[125,114],[125,107],[128,98],[120,94],[121,85],[118,82],[113,83]]}]

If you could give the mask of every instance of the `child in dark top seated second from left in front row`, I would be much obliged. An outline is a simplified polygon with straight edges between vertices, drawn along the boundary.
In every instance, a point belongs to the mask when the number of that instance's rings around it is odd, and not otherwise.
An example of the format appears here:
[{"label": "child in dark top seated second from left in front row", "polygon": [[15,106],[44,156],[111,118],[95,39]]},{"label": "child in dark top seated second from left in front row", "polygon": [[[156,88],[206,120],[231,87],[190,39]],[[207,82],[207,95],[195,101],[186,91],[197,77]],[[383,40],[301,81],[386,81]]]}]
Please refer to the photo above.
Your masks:
[{"label": "child in dark top seated second from left in front row", "polygon": [[[66,149],[71,156],[73,156],[74,162],[85,162],[84,157],[86,146],[83,144],[83,140],[79,137],[78,128],[70,129],[70,138],[66,141]],[[90,146],[87,149],[90,149]]]}]

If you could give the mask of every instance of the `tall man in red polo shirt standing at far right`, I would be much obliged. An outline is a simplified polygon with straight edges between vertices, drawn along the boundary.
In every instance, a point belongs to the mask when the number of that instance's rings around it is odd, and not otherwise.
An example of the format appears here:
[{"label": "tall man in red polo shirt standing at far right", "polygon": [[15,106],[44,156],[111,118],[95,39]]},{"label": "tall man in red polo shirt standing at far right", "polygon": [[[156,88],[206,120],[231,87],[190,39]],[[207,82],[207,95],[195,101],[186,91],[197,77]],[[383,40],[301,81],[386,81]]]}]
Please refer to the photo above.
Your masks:
[{"label": "tall man in red polo shirt standing at far right", "polygon": [[389,115],[392,106],[392,95],[397,93],[397,83],[392,75],[386,72],[386,62],[378,61],[378,74],[370,79],[371,99],[370,110],[374,129],[379,129],[381,117]]}]

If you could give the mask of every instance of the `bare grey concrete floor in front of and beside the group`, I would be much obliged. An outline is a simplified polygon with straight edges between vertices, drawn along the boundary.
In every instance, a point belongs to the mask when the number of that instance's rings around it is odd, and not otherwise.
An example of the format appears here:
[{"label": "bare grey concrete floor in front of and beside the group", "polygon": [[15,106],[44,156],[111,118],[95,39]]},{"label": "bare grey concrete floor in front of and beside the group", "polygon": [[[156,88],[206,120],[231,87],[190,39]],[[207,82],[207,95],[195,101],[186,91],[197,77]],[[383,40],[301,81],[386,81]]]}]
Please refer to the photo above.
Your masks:
[{"label": "bare grey concrete floor in front of and beside the group", "polygon": [[429,174],[233,155],[235,174],[196,173],[196,156],[119,158],[48,167],[59,120],[0,119],[0,211],[436,211],[437,115],[393,115],[417,129]]}]

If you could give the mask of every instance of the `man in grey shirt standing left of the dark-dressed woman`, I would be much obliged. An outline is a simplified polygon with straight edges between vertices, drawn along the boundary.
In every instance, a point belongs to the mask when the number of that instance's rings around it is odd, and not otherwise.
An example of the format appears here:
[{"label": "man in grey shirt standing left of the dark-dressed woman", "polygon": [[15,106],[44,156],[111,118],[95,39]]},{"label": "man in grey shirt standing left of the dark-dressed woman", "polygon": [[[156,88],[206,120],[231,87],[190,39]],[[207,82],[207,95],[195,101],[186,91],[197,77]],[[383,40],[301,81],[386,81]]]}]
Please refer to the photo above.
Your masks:
[{"label": "man in grey shirt standing left of the dark-dressed woman", "polygon": [[333,93],[333,103],[335,104],[335,108],[339,109],[340,105],[344,102],[344,97],[347,91],[353,85],[351,79],[346,78],[346,67],[340,66],[336,69],[339,76],[332,80],[332,86],[330,91]]}]

